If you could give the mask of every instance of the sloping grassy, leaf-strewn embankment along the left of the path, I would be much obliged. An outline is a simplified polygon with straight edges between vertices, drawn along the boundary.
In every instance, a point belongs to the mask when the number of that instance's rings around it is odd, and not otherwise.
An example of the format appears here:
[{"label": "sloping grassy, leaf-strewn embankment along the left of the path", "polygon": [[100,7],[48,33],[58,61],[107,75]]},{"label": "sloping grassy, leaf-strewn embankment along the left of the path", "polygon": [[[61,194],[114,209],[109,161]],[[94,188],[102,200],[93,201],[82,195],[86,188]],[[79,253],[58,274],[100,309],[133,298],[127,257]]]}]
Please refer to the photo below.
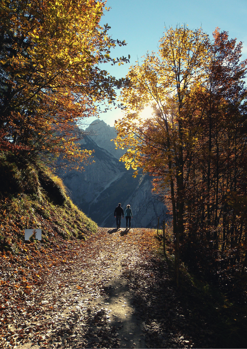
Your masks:
[{"label": "sloping grassy, leaf-strewn embankment along the left of the path", "polygon": [[[0,156],[0,298],[29,292],[42,275],[66,264],[97,224],[66,194],[62,180],[43,168]],[[42,241],[25,241],[25,229],[42,229]],[[11,292],[10,292],[11,291]],[[4,296],[5,295],[5,296]],[[1,302],[0,302],[1,303]],[[0,310],[7,310],[4,305]]]}]

